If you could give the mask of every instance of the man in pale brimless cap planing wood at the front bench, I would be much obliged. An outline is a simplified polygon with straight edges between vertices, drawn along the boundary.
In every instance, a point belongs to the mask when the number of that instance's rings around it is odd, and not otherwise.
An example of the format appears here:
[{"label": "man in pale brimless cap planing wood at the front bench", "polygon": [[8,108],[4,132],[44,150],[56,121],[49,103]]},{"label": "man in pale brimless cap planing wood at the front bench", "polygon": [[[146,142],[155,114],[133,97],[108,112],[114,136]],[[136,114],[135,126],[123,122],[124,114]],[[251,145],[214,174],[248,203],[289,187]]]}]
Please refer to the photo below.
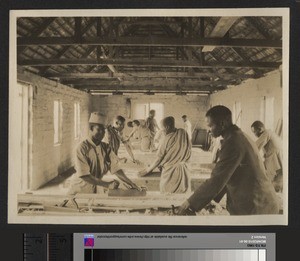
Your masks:
[{"label": "man in pale brimless cap planing wood at the front bench", "polygon": [[96,193],[97,186],[109,189],[118,188],[117,180],[102,180],[108,171],[131,188],[141,190],[118,167],[118,157],[111,147],[102,142],[105,134],[104,121],[105,117],[98,112],[93,112],[90,116],[89,136],[77,147],[76,173],[72,177],[68,194]]}]

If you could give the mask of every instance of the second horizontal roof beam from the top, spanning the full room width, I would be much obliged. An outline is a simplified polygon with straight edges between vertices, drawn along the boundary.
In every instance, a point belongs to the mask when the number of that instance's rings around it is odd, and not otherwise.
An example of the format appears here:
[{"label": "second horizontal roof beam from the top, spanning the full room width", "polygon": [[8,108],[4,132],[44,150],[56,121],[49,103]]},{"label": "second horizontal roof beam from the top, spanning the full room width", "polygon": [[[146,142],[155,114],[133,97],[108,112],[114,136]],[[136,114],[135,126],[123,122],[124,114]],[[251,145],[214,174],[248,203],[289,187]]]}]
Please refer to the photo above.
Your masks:
[{"label": "second horizontal roof beam from the top, spanning the full room width", "polygon": [[26,59],[18,60],[21,66],[58,66],[58,65],[118,65],[151,67],[197,67],[197,68],[279,68],[281,62],[210,62],[202,65],[198,61],[179,61],[166,59]]}]

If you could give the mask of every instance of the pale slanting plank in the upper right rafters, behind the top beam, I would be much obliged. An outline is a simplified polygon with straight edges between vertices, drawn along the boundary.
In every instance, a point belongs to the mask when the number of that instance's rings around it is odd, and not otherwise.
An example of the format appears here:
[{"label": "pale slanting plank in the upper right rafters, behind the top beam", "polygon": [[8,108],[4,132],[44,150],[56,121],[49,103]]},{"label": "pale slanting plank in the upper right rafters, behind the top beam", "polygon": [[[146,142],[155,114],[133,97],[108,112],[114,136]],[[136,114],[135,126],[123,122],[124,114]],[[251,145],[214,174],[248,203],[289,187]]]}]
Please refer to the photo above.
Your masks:
[{"label": "pale slanting plank in the upper right rafters, behind the top beam", "polygon": [[[223,37],[239,17],[221,17],[209,37]],[[211,52],[215,46],[204,46],[202,52]]]}]

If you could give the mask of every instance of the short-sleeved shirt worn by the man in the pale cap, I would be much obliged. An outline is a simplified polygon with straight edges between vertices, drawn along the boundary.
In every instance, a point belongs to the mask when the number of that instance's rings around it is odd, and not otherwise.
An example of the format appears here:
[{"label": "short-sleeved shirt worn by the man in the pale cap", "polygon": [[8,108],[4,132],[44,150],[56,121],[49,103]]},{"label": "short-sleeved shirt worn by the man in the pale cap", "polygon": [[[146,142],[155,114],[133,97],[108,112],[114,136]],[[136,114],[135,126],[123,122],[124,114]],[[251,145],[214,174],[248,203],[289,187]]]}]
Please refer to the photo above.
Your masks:
[{"label": "short-sleeved shirt worn by the man in the pale cap", "polygon": [[94,193],[96,186],[85,182],[82,177],[92,175],[101,179],[108,171],[117,172],[118,157],[111,150],[110,146],[101,142],[98,146],[87,138],[82,141],[76,150],[76,173],[71,180],[69,194],[75,193]]}]

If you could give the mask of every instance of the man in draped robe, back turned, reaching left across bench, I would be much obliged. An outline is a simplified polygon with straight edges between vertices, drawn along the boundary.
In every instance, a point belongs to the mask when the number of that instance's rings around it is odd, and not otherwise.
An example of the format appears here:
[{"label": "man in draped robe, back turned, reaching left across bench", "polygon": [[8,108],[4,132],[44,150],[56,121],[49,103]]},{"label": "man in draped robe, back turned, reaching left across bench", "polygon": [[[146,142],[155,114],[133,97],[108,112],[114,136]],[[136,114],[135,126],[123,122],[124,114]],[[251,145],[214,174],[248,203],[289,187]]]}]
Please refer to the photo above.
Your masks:
[{"label": "man in draped robe, back turned, reaching left across bench", "polygon": [[164,118],[163,126],[166,136],[157,151],[156,160],[140,171],[139,176],[145,176],[160,167],[160,192],[185,193],[190,178],[187,163],[191,157],[191,142],[185,130],[175,128],[173,117]]}]

